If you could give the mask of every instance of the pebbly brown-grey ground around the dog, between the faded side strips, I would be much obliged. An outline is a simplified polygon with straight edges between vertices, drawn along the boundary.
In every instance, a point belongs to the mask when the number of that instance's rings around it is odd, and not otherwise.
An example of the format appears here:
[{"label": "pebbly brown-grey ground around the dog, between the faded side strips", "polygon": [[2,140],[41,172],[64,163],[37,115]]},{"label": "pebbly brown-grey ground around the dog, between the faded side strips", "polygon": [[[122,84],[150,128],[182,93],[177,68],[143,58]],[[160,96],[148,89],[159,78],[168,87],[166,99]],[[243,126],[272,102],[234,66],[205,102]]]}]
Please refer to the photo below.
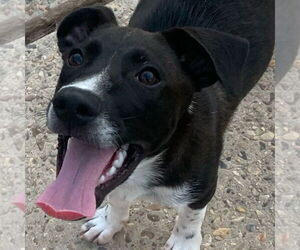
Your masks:
[{"label": "pebbly brown-grey ground around the dog, between the faded side strips", "polygon": [[[57,2],[26,1],[27,17]],[[125,24],[136,0],[109,4]],[[55,177],[56,135],[45,127],[45,110],[58,78],[61,60],[55,34],[26,48],[26,249],[160,249],[174,224],[175,211],[136,202],[130,220],[115,240],[95,246],[79,237],[82,222],[46,216],[33,202]],[[274,249],[274,86],[273,66],[237,110],[225,138],[219,184],[209,203],[201,249]]]}]

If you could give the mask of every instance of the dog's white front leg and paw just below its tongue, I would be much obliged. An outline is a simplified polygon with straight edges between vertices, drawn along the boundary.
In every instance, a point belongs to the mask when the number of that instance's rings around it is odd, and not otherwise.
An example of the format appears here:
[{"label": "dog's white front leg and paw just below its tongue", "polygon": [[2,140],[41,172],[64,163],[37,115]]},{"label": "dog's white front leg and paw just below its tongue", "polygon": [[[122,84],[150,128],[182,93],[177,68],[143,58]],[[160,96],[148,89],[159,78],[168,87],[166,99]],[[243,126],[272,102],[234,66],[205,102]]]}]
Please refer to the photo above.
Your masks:
[{"label": "dog's white front leg and paw just below its tongue", "polygon": [[97,244],[106,244],[128,220],[131,197],[120,189],[108,196],[108,204],[97,209],[94,217],[81,227],[82,237]]}]

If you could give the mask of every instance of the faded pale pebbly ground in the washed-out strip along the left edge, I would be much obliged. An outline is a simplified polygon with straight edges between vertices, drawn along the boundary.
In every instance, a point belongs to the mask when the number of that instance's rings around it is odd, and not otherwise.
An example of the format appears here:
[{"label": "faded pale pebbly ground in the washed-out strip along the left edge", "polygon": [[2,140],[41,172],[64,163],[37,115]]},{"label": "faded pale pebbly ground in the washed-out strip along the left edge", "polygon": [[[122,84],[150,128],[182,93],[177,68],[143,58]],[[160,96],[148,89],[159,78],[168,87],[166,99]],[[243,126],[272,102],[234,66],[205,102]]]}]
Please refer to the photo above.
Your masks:
[{"label": "faded pale pebbly ground in the washed-out strip along the left edge", "polygon": [[[22,16],[22,0],[0,0],[0,25]],[[24,39],[0,46],[0,249],[24,249],[24,215],[11,201],[24,191]]]}]

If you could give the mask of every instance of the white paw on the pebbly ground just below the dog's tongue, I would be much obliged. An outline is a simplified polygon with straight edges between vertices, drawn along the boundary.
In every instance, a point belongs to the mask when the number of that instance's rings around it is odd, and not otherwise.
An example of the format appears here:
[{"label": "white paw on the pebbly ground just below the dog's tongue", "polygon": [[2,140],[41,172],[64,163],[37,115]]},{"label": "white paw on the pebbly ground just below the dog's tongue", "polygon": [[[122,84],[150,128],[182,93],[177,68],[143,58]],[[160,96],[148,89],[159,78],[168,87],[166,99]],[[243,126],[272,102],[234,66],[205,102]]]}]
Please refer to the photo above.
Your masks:
[{"label": "white paw on the pebbly ground just below the dog's tongue", "polygon": [[122,220],[110,216],[108,206],[98,209],[95,216],[81,227],[82,238],[97,244],[110,242],[123,228]]}]

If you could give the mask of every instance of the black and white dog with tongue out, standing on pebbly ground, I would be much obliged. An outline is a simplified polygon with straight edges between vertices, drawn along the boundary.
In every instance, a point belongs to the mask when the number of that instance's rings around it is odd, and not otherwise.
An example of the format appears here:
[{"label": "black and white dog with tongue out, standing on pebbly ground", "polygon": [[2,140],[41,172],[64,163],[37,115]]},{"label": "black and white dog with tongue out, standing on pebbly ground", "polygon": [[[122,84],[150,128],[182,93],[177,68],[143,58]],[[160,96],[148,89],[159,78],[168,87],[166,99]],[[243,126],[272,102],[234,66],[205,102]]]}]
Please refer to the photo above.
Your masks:
[{"label": "black and white dog with tongue out, standing on pebbly ground", "polygon": [[112,240],[140,197],[178,209],[165,249],[196,250],[216,190],[223,134],[274,46],[273,0],[141,0],[128,27],[105,7],[68,15],[47,112],[58,177],[38,205],[92,217],[83,237]]}]

